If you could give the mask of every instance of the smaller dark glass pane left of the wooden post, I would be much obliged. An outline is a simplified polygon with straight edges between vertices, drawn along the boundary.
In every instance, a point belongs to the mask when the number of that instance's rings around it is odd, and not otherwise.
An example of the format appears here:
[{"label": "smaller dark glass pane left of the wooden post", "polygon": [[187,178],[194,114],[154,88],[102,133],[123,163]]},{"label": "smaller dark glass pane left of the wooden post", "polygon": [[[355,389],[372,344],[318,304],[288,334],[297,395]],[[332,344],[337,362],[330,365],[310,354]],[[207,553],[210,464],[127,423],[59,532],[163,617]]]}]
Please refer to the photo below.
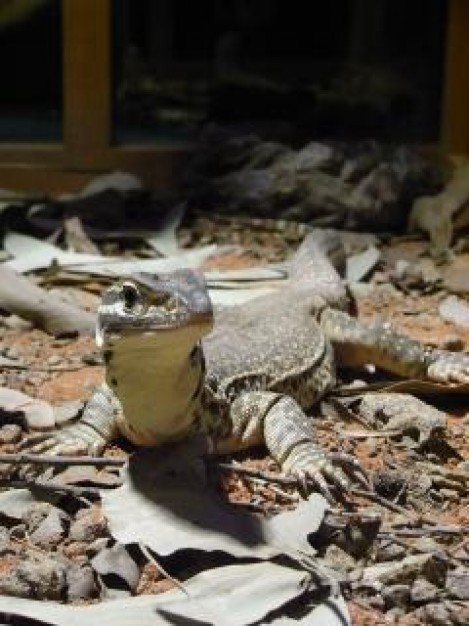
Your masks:
[{"label": "smaller dark glass pane left of the wooden post", "polygon": [[62,134],[60,0],[0,0],[0,141]]}]

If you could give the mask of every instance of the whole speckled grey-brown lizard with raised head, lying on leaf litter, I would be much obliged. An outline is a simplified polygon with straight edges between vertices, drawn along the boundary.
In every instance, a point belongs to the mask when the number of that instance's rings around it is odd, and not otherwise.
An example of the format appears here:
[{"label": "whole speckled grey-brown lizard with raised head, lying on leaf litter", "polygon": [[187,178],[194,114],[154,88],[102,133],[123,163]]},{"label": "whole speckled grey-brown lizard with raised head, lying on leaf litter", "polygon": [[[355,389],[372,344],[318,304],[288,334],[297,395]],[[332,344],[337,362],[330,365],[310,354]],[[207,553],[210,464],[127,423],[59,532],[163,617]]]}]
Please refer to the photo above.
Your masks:
[{"label": "whole speckled grey-brown lizard with raised head, lying on leaf litter", "polygon": [[78,422],[25,446],[97,454],[119,435],[154,446],[201,430],[214,453],[265,444],[284,472],[325,493],[329,482],[345,489],[351,459],[327,455],[307,416],[333,389],[337,366],[374,363],[403,377],[466,383],[469,355],[354,317],[330,260],[340,258],[331,232],[306,236],[283,288],[215,312],[194,270],[110,286],[96,325],[105,382]]}]

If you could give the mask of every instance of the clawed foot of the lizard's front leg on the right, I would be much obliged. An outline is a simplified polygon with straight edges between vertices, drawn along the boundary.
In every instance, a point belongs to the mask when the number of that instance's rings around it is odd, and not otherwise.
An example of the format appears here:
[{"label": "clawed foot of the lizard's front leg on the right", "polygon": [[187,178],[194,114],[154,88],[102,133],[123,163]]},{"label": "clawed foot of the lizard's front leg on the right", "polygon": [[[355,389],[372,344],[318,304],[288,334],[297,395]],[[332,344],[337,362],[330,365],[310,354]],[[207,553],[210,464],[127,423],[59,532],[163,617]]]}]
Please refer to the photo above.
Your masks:
[{"label": "clawed foot of the lizard's front leg on the right", "polygon": [[346,454],[328,456],[312,442],[295,446],[282,467],[286,473],[298,478],[303,492],[308,491],[307,483],[313,482],[329,502],[334,502],[336,498],[332,496],[328,481],[339,493],[349,490],[350,478],[358,480],[369,489],[368,477],[356,459]]}]

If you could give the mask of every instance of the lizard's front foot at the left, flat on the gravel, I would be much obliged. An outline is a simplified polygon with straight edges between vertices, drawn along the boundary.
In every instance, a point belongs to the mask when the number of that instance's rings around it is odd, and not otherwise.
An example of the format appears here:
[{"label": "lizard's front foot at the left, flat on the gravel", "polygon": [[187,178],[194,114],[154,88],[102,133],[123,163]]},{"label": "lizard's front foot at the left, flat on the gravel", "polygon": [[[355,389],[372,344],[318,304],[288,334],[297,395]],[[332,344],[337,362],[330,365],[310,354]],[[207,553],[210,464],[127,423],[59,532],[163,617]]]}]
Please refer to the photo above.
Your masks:
[{"label": "lizard's front foot at the left, flat on the gravel", "polygon": [[[101,454],[106,440],[89,424],[79,422],[61,430],[30,435],[19,445],[19,452],[47,456],[97,456]],[[25,464],[18,468],[23,479],[43,474],[47,464]],[[16,469],[16,468],[15,468]]]}]

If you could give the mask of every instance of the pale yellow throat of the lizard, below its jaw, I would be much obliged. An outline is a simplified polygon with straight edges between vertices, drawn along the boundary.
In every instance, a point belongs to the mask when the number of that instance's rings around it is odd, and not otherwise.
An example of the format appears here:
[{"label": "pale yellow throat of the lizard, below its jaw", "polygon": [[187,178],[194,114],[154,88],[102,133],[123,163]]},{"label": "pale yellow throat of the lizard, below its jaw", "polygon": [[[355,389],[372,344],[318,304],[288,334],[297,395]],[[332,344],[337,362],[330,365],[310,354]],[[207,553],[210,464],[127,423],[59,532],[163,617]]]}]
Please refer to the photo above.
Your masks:
[{"label": "pale yellow throat of the lizard, below its jaw", "polygon": [[[119,398],[121,433],[137,445],[153,446],[187,435],[199,402],[200,360],[191,358],[194,330],[112,336],[106,382]],[[191,341],[192,339],[192,341]]]}]

